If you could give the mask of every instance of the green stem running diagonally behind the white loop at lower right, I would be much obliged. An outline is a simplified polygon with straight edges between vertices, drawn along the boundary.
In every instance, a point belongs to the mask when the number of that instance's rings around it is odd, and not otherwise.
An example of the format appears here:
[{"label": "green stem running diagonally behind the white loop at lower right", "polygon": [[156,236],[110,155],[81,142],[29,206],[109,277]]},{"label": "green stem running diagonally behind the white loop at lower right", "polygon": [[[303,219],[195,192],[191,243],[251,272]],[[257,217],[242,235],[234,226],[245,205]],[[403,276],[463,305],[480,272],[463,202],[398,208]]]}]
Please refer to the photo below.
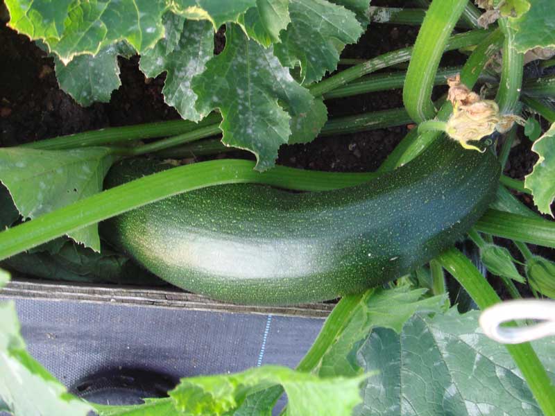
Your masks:
[{"label": "green stem running diagonally behind the white loop at lower right", "polygon": [[[477,268],[458,250],[443,252],[438,261],[459,281],[480,309],[501,302]],[[555,415],[555,385],[549,379],[543,364],[530,343],[506,345],[522,376],[545,415]]]}]

